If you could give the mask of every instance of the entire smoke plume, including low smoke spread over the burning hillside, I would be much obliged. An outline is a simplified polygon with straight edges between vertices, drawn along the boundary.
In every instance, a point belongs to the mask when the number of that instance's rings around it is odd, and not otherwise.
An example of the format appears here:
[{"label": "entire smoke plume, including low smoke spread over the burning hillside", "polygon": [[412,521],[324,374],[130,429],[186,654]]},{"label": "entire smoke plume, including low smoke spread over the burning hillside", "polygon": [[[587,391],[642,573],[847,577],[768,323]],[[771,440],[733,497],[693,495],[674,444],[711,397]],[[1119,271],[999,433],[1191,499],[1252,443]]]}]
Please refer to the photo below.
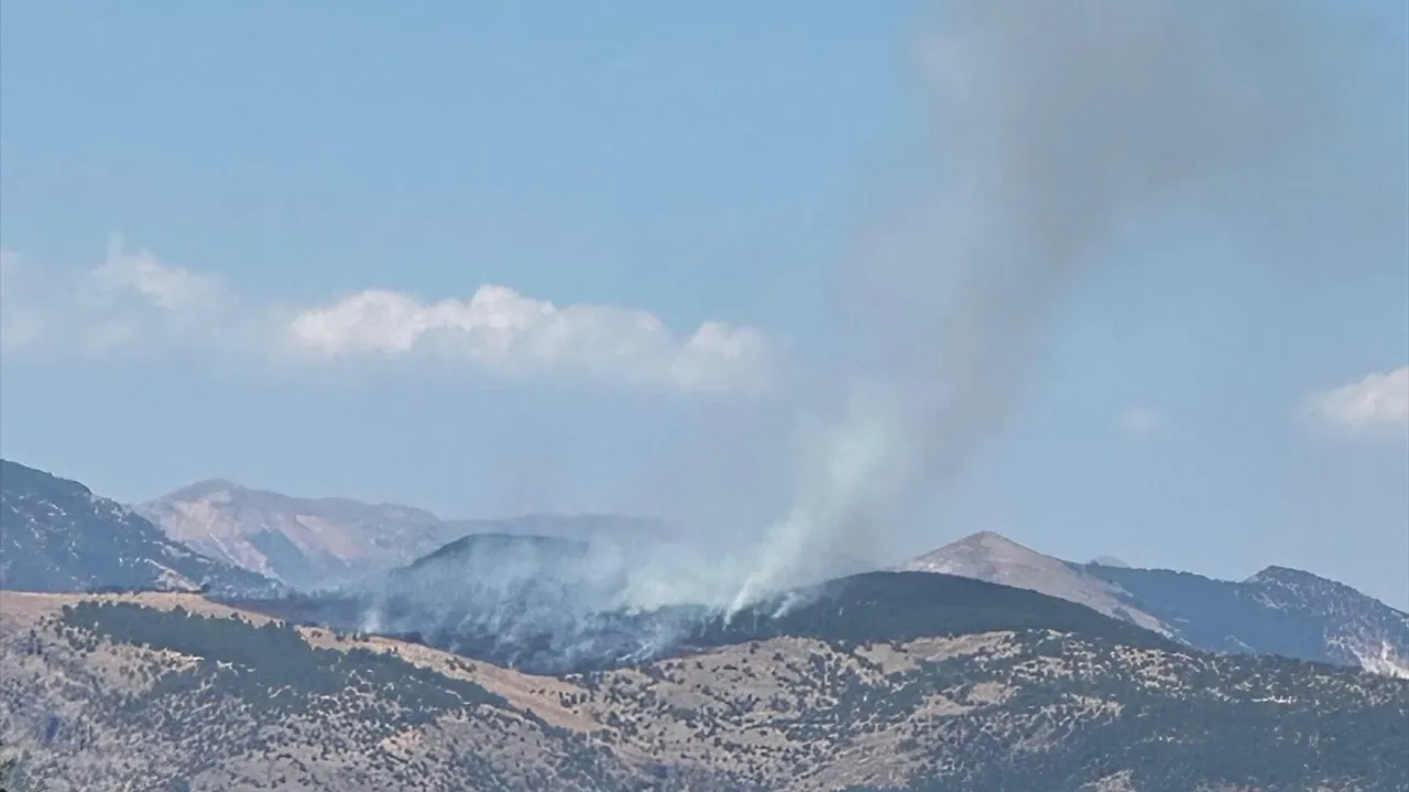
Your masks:
[{"label": "entire smoke plume, including low smoke spread over the burning hillside", "polygon": [[[819,378],[836,388],[809,389],[790,509],[733,552],[714,541],[723,528],[693,547],[562,551],[566,562],[483,545],[376,595],[366,624],[578,667],[655,654],[721,612],[786,610],[785,589],[883,552],[1003,427],[1084,271],[1117,264],[1123,235],[1160,213],[1248,209],[1337,125],[1348,48],[1337,11],[1309,8],[945,3],[923,48],[938,194],[899,213],[840,279],[845,362]],[[1312,211],[1343,200],[1317,189]],[[478,588],[449,596],[464,581]]]}]

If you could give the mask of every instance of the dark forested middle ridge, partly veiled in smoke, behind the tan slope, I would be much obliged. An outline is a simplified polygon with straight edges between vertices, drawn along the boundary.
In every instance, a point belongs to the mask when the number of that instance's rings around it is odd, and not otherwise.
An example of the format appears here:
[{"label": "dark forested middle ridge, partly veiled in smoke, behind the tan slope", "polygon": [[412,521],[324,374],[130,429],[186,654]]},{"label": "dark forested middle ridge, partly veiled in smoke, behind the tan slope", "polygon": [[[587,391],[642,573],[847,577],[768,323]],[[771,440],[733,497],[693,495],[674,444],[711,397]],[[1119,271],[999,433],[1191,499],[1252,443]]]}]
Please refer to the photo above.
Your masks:
[{"label": "dark forested middle ridge, partly veiled in smoke, behind the tan slope", "polygon": [[[514,538],[521,552],[523,540]],[[702,605],[624,606],[616,596],[619,579],[593,579],[581,567],[564,574],[535,565],[492,579],[458,574],[459,567],[454,571],[455,576],[395,578],[378,592],[223,602],[306,626],[379,633],[533,674],[620,668],[779,636],[854,643],[961,634],[975,626],[1084,631],[1130,645],[1177,648],[1168,638],[1088,607],[951,575],[865,572],[793,589],[726,616]]]}]

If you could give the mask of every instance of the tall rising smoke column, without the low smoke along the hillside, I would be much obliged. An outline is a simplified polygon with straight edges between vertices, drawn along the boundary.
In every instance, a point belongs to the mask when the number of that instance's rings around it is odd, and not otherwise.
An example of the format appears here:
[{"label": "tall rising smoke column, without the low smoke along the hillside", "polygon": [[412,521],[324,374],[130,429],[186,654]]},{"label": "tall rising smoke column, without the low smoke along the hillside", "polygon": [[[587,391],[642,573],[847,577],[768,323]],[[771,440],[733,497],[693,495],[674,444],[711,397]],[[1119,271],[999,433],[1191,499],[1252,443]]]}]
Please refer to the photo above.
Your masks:
[{"label": "tall rising smoke column, without the low smoke along the hillside", "polygon": [[926,63],[945,185],[845,279],[848,406],[735,606],[875,544],[943,492],[1013,410],[1061,297],[1133,224],[1227,200],[1315,145],[1347,49],[1303,11],[944,6]]}]

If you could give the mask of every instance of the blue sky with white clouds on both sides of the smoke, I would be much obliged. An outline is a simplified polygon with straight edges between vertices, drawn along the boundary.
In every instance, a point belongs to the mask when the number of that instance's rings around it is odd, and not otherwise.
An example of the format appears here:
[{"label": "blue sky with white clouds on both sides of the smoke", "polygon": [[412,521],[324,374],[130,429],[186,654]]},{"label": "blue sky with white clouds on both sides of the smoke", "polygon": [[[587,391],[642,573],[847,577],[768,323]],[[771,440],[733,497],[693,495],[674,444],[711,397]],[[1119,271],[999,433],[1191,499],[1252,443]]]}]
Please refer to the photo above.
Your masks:
[{"label": "blue sky with white clouds on both sides of the smoke", "polygon": [[[1386,7],[1320,154],[1237,213],[1137,217],[1002,427],[878,544],[996,530],[1409,605]],[[747,533],[790,502],[799,382],[845,376],[838,273],[947,168],[927,3],[0,17],[0,447],[127,500],[225,476]]]}]

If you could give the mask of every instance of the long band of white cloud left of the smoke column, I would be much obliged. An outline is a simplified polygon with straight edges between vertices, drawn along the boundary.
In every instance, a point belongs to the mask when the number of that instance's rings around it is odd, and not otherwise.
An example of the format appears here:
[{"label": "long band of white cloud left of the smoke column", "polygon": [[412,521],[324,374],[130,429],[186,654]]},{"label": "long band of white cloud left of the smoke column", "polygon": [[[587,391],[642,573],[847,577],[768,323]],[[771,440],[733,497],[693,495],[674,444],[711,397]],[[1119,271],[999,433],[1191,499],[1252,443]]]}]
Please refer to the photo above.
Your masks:
[{"label": "long band of white cloud left of the smoke column", "polygon": [[440,302],[368,289],[324,306],[248,304],[220,278],[165,264],[120,238],[96,268],[35,273],[42,278],[31,279],[28,266],[20,272],[20,258],[4,254],[7,352],[187,349],[344,365],[438,359],[503,378],[714,393],[762,392],[776,362],[772,342],[754,328],[704,321],[679,334],[645,310],[557,306],[493,285]]}]

